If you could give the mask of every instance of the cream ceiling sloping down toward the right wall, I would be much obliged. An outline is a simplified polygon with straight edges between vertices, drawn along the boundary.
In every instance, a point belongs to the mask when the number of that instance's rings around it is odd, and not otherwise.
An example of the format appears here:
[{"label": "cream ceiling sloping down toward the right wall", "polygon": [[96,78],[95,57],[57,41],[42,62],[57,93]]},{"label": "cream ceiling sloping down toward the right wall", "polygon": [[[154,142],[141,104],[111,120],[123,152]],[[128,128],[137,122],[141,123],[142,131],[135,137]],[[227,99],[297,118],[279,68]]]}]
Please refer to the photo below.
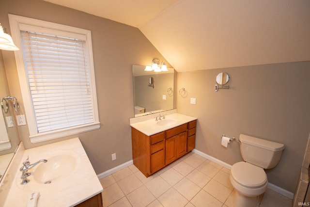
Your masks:
[{"label": "cream ceiling sloping down toward the right wall", "polygon": [[140,29],[176,71],[310,60],[310,0],[46,0]]}]

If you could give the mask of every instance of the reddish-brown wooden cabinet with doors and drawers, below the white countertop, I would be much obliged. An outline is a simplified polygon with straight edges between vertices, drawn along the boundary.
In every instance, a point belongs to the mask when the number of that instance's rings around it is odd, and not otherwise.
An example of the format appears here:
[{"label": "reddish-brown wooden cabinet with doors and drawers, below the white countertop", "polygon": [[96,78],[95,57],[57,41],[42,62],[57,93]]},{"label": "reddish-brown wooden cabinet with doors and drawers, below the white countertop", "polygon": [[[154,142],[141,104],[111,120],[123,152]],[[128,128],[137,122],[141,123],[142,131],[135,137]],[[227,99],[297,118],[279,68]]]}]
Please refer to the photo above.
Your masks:
[{"label": "reddish-brown wooden cabinet with doors and drawers, below the white countertop", "polygon": [[131,127],[134,165],[146,177],[195,148],[196,120],[147,136]]}]

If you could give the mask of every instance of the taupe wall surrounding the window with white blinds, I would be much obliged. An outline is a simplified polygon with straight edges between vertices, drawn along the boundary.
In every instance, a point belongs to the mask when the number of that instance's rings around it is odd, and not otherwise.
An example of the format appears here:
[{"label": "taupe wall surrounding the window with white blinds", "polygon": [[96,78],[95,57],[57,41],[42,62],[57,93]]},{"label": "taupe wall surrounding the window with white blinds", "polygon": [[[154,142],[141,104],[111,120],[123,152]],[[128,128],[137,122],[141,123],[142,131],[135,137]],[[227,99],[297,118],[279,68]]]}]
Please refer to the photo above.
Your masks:
[{"label": "taupe wall surrounding the window with white blinds", "polygon": [[[10,32],[8,14],[27,16],[92,31],[101,128],[54,141],[32,144],[29,139],[28,127],[18,127],[20,140],[24,142],[25,147],[31,148],[78,136],[97,174],[131,160],[129,118],[134,117],[132,64],[151,64],[155,57],[164,60],[160,53],[134,27],[42,0],[0,1],[0,22],[8,32]],[[20,101],[19,114],[24,114],[14,52],[2,51],[2,54],[10,92]],[[168,66],[171,65],[168,64]],[[116,153],[115,161],[111,160],[112,153]]]}]

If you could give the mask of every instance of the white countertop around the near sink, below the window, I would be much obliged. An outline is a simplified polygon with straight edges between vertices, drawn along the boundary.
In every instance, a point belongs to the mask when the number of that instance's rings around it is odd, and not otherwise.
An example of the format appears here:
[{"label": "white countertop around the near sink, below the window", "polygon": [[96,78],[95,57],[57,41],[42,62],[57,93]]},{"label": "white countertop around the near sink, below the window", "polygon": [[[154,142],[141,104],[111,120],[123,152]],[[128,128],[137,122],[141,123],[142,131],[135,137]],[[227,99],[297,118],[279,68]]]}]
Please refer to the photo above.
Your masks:
[{"label": "white countertop around the near sink, below the window", "polygon": [[[27,197],[30,193],[39,191],[37,207],[73,207],[103,191],[93,166],[78,138],[51,143],[31,149],[26,149],[21,159],[20,167],[29,156],[32,163],[40,159],[48,159],[57,155],[71,155],[76,158],[74,170],[65,172],[68,176],[52,180],[50,184],[38,183],[34,175],[28,177],[29,183],[21,185],[21,172],[18,170],[14,182],[5,200],[4,207],[27,207]],[[35,172],[41,162],[29,172]]]}]

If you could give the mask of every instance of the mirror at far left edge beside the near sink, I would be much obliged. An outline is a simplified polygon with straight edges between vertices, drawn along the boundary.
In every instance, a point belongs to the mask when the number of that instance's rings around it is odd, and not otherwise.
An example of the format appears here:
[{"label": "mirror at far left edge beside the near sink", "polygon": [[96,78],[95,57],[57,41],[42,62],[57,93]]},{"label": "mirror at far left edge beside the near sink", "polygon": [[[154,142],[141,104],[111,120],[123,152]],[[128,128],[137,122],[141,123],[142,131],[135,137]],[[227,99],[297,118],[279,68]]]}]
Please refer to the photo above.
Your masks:
[{"label": "mirror at far left edge beside the near sink", "polygon": [[[0,99],[10,94],[7,82],[2,53],[0,52]],[[15,115],[18,114],[14,112],[12,101],[8,101],[7,106],[8,108],[5,111],[0,107],[0,180],[20,143],[16,126],[8,127],[6,123],[6,117],[12,117],[16,125]]]}]

